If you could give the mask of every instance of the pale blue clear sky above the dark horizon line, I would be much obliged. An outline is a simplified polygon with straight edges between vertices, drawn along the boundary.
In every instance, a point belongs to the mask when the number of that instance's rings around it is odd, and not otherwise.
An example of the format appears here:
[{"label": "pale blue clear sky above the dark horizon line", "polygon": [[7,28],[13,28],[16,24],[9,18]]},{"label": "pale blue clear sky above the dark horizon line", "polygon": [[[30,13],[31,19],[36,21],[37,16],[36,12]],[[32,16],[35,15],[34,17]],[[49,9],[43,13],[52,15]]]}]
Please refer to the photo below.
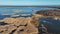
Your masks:
[{"label": "pale blue clear sky above the dark horizon line", "polygon": [[1,5],[14,5],[14,6],[60,5],[60,0],[0,0],[0,6]]}]

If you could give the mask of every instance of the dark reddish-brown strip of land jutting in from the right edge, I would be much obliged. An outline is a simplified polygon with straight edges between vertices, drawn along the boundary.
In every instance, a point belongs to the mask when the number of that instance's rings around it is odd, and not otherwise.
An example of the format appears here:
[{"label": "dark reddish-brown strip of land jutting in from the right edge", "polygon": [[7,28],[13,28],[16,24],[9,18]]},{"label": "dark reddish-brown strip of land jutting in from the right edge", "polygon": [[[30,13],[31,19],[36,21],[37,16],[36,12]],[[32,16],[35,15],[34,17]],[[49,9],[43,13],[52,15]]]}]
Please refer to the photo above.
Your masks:
[{"label": "dark reddish-brown strip of land jutting in from the right edge", "polygon": [[60,10],[41,10],[37,11],[36,14],[44,16],[60,16]]}]

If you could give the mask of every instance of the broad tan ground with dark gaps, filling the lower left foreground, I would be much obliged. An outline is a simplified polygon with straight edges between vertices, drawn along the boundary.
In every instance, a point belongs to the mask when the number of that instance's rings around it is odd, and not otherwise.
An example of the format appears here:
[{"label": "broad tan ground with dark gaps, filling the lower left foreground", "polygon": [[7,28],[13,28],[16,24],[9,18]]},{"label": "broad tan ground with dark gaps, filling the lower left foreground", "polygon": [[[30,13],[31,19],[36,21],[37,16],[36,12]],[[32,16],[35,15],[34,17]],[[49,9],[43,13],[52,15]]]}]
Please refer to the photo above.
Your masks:
[{"label": "broad tan ground with dark gaps, filling the lower left foreground", "polygon": [[1,22],[7,23],[0,26],[0,34],[38,34],[38,19],[28,18],[5,18]]}]

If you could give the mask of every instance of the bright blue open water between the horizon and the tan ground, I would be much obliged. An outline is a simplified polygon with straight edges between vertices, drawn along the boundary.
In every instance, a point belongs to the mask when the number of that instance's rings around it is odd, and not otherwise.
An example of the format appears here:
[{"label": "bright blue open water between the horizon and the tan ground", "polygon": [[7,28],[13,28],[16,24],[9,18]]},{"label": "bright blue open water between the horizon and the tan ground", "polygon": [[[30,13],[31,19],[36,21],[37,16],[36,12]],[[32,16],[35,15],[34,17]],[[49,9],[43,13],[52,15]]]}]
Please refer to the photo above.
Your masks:
[{"label": "bright blue open water between the horizon and the tan ground", "polygon": [[[42,7],[0,7],[0,20],[10,16],[3,16],[2,14],[30,14],[31,16],[39,10],[54,10],[56,8],[42,8]],[[24,11],[24,12],[20,12]]]}]

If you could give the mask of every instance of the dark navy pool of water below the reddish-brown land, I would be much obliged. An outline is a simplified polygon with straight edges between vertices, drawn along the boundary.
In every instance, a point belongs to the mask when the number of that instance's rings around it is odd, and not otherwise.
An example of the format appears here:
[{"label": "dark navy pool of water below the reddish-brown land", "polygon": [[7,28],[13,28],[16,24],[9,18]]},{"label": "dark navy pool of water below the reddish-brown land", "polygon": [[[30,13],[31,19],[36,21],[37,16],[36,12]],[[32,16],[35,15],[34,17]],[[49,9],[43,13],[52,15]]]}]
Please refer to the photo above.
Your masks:
[{"label": "dark navy pool of water below the reddish-brown land", "polygon": [[60,20],[54,20],[53,18],[40,18],[39,21],[47,28],[48,32],[60,33]]}]

